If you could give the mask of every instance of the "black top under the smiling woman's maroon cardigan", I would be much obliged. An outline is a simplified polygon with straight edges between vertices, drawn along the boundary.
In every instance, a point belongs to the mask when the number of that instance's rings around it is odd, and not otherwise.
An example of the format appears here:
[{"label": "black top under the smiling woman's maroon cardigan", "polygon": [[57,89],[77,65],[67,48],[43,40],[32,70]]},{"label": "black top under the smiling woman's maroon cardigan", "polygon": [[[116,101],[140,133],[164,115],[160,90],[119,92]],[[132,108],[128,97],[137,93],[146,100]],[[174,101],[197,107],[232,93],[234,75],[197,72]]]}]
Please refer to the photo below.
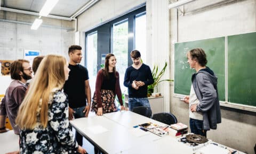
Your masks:
[{"label": "black top under the smiling woman's maroon cardigan", "polygon": [[114,74],[114,72],[109,72],[108,75],[109,78],[107,78],[107,76],[103,77],[101,89],[112,90],[115,93],[116,75]]}]

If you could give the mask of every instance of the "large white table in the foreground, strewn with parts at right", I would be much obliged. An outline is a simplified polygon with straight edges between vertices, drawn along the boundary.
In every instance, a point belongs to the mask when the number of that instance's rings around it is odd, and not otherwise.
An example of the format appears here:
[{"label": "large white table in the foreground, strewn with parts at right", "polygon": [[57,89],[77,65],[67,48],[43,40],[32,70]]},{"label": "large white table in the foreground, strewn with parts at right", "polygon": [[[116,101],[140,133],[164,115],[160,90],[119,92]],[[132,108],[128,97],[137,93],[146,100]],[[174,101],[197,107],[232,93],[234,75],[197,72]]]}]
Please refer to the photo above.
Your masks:
[{"label": "large white table in the foreground, strewn with parts at right", "polygon": [[[200,150],[193,151],[192,148],[178,142],[178,139],[173,136],[160,137],[142,131],[139,127],[133,127],[148,122],[165,125],[130,111],[108,113],[103,114],[103,116],[90,116],[70,121],[79,133],[105,153],[178,154],[200,152]],[[214,152],[214,150],[212,151]]]}]

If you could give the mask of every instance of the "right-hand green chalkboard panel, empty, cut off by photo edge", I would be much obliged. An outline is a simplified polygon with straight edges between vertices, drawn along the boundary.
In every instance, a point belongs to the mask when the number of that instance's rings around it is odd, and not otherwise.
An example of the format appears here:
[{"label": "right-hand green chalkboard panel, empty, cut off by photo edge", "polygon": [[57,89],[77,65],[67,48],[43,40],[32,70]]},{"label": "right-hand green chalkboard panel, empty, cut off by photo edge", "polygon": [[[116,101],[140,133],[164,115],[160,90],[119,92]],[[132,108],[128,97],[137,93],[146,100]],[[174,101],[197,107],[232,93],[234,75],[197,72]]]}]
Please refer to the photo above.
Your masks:
[{"label": "right-hand green chalkboard panel, empty, cut off by photo edge", "polygon": [[256,32],[228,36],[228,102],[256,106]]}]

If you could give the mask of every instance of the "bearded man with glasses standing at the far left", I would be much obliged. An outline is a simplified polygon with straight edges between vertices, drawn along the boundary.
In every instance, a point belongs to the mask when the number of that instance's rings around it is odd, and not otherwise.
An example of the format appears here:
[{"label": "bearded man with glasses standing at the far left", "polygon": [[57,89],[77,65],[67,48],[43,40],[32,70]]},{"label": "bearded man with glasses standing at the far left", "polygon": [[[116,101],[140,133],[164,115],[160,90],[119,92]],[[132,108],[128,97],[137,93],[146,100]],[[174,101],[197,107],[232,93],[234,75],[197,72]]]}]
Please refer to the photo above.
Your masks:
[{"label": "bearded man with glasses standing at the far left", "polygon": [[[5,97],[0,104],[0,119],[5,121],[7,114],[15,134],[19,134],[19,129],[15,124],[17,112],[27,90],[26,82],[32,78],[32,68],[29,61],[18,59],[11,64],[10,74],[13,81],[6,90]],[[0,133],[5,132],[5,126],[0,126]],[[5,123],[4,123],[5,124]]]}]

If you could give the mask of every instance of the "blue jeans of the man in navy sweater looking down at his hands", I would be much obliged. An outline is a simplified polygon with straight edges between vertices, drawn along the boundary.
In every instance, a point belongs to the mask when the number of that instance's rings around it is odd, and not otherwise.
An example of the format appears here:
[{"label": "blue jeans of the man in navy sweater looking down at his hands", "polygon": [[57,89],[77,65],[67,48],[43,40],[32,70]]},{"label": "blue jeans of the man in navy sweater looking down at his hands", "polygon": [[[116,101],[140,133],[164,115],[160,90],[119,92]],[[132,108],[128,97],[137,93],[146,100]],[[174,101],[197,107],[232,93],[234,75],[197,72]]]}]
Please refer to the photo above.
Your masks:
[{"label": "blue jeans of the man in navy sweater looking down at his hands", "polygon": [[129,104],[129,110],[131,111],[134,107],[139,107],[139,106],[146,106],[149,109],[151,109],[148,98],[128,98],[128,104]]}]

